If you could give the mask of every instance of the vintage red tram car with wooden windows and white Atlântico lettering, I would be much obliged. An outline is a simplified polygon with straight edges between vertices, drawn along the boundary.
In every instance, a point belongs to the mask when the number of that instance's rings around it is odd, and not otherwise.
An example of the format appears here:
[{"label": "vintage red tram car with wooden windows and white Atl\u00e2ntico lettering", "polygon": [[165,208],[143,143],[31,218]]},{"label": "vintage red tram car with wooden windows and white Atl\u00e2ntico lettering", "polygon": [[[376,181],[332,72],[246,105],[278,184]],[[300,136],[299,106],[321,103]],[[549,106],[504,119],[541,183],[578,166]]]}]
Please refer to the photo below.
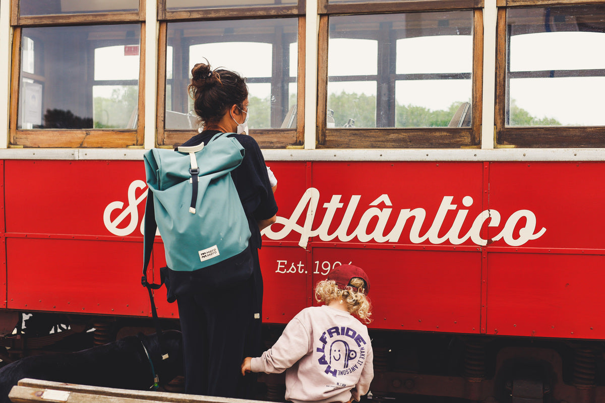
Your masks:
[{"label": "vintage red tram car with wooden windows and white Atl\u00e2ntico lettering", "polygon": [[603,1],[38,3],[0,6],[3,360],[150,326],[142,155],[195,133],[207,57],[278,178],[267,344],[351,262],[371,398],[605,401]]}]

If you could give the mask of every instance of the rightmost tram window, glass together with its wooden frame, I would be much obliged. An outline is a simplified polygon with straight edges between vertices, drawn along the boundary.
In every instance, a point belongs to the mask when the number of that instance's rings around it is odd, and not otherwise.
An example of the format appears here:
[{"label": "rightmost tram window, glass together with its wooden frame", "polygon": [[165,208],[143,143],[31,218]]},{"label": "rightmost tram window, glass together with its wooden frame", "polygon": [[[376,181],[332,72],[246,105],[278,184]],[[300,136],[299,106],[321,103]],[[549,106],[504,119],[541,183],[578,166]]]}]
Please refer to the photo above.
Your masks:
[{"label": "rightmost tram window, glass together with its wooden frame", "polygon": [[498,146],[605,147],[605,5],[498,15]]}]

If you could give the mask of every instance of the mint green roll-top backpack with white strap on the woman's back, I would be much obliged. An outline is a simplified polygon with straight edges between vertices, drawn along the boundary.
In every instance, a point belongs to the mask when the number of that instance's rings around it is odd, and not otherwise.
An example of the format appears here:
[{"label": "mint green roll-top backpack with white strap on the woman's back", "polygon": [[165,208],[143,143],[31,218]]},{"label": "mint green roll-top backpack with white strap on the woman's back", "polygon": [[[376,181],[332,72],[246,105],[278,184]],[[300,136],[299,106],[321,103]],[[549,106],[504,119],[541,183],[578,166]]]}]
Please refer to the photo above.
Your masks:
[{"label": "mint green roll-top backpack with white strap on the woman's back", "polygon": [[231,171],[244,158],[244,147],[218,133],[206,146],[178,147],[177,151],[152,149],[144,155],[149,190],[143,285],[156,225],[169,269],[204,270],[211,286],[249,278],[252,266],[218,264],[248,248],[250,228],[231,178]]}]

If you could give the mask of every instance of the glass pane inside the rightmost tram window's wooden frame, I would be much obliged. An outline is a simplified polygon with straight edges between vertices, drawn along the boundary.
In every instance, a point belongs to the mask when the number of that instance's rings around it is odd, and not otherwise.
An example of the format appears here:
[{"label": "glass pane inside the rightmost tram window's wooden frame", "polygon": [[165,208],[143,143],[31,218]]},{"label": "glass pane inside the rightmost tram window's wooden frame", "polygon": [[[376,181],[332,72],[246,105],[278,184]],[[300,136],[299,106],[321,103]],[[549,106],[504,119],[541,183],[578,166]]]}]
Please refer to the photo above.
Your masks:
[{"label": "glass pane inside the rightmost tram window's wooden frame", "polygon": [[507,13],[507,126],[604,126],[605,7]]}]

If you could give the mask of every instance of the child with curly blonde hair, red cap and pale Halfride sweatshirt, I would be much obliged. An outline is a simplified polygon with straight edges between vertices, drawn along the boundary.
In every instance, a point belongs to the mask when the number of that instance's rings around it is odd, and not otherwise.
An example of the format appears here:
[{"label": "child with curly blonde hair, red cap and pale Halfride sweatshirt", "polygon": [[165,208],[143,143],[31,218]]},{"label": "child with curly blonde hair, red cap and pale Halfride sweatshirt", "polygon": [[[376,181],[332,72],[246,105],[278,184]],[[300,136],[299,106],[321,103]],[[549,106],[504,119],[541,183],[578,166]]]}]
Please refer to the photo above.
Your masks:
[{"label": "child with curly blonde hair, red cap and pale Halfride sweatshirt", "polygon": [[324,303],[299,312],[283,334],[260,357],[244,358],[241,373],[286,371],[286,400],[293,403],[359,401],[374,378],[367,327],[370,281],[353,265],[330,271],[315,288]]}]

